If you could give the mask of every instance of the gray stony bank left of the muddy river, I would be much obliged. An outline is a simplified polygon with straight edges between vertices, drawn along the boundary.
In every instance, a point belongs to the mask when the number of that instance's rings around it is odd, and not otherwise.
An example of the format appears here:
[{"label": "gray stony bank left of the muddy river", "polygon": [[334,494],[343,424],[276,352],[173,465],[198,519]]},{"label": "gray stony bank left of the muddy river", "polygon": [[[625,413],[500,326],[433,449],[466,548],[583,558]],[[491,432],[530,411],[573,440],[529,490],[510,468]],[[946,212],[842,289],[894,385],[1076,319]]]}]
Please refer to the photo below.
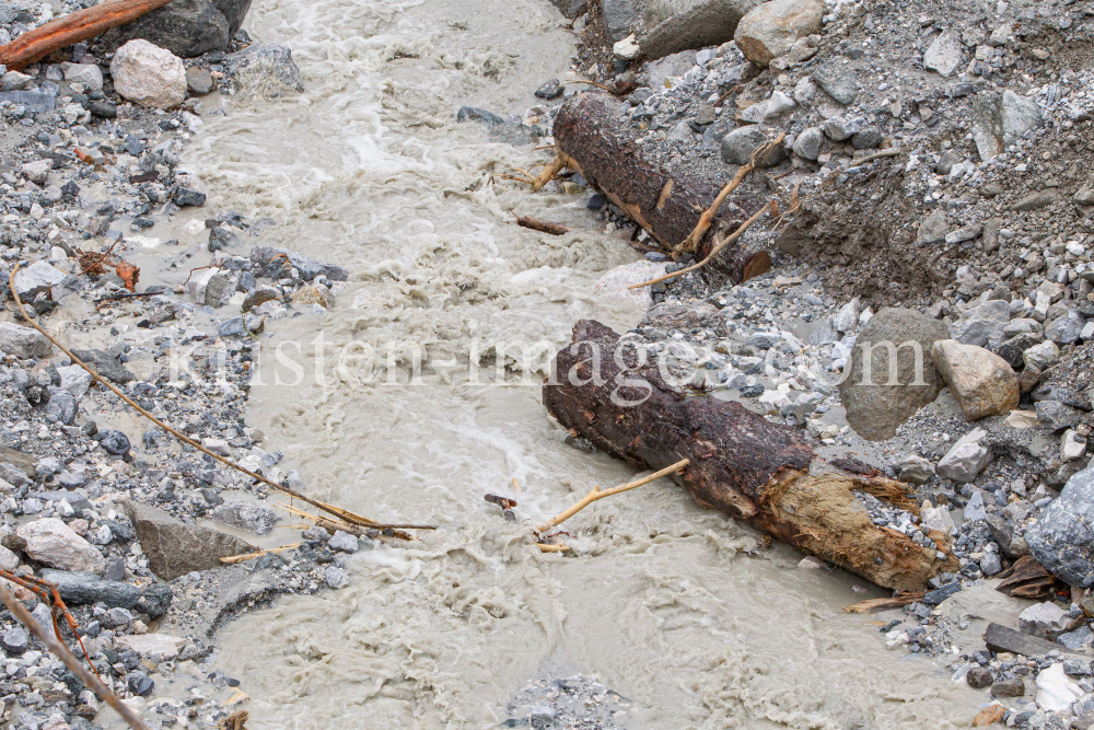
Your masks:
[{"label": "gray stony bank left of the muddy river", "polygon": [[[205,665],[217,627],[283,592],[344,586],[340,556],[360,542],[313,529],[299,549],[222,565],[282,520],[268,489],[127,413],[22,321],[8,278],[19,265],[28,315],[158,418],[300,486],[244,424],[253,346],[267,322],[322,315],[346,270],[259,245],[268,219],[209,210],[171,227],[205,207],[179,160],[202,116],[225,113],[217,100],[301,88],[288,48],[238,31],[246,5],[170,5],[0,77],[0,567],[58,586],[92,665],[155,727],[214,727],[236,709],[240,682]],[[57,14],[2,4],[0,40]],[[50,624],[46,603],[8,586]],[[0,646],[5,723],[97,727],[95,696],[8,612]]]}]

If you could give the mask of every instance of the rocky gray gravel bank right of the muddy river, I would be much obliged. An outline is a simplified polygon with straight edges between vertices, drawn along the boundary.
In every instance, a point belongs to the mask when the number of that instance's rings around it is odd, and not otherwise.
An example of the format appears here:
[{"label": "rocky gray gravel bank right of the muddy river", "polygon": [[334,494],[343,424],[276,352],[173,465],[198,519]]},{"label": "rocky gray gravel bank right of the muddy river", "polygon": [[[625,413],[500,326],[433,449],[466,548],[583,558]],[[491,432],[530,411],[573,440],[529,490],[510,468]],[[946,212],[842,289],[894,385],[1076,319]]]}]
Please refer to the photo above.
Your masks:
[{"label": "rocky gray gravel bank right of the muddy river", "polygon": [[[1094,11],[799,0],[559,8],[584,40],[574,78],[547,81],[544,102],[510,123],[549,129],[571,96],[598,93],[573,83],[590,79],[625,101],[620,124],[640,134],[647,159],[670,176],[723,181],[785,134],[741,188],[787,211],[746,234],[776,265],[737,286],[698,271],[622,289],[693,262],[666,264],[591,190],[605,231],[649,251],[648,263],[597,286],[648,308],[627,341],[696,392],[806,429],[830,453],[851,448],[912,485],[918,514],[866,496],[863,507],[918,543],[928,528],[948,533],[962,567],[885,627],[889,645],[945,657],[970,686],[994,682],[991,697],[1005,707],[986,697],[984,723],[1089,727]],[[584,184],[563,174],[548,189]],[[911,347],[863,352],[877,343],[916,343],[923,382],[909,385]],[[896,381],[863,383],[868,358],[873,373],[894,360]],[[1024,589],[1015,570],[1034,571]],[[986,646],[982,624],[969,631],[996,612],[978,603],[1010,600],[986,598],[986,586],[1038,601],[1013,600],[1009,621],[1055,646]]]}]

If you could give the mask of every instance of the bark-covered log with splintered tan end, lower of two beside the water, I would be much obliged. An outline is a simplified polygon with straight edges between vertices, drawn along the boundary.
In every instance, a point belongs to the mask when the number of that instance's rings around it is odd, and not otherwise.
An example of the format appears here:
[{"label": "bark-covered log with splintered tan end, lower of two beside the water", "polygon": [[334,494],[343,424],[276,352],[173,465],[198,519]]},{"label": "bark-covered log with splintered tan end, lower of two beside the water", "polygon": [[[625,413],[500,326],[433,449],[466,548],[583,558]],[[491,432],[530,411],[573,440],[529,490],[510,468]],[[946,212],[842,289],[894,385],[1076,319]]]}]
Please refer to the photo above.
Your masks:
[{"label": "bark-covered log with splintered tan end, lower of two beside the water", "polygon": [[929,534],[940,558],[904,533],[875,525],[854,495],[861,490],[918,512],[904,484],[854,460],[825,462],[802,431],[738,403],[688,397],[655,363],[638,364],[612,329],[581,321],[544,383],[544,405],[562,426],[640,468],[689,460],[672,478],[702,507],[747,520],[878,586],[917,591],[936,572],[957,570],[948,535]]}]

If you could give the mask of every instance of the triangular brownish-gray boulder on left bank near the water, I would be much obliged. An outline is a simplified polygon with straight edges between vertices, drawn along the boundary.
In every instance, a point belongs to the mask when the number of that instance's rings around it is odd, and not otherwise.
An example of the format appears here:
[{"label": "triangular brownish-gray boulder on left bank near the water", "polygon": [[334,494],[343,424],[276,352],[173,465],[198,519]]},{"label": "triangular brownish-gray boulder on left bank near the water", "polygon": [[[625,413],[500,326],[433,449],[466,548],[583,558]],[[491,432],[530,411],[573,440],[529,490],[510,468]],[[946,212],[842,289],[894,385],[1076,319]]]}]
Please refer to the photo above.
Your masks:
[{"label": "triangular brownish-gray boulder on left bank near the water", "polygon": [[196,524],[184,524],[166,512],[125,500],[123,508],[137,529],[152,572],[163,580],[174,580],[194,570],[221,566],[220,558],[254,552],[238,537]]}]

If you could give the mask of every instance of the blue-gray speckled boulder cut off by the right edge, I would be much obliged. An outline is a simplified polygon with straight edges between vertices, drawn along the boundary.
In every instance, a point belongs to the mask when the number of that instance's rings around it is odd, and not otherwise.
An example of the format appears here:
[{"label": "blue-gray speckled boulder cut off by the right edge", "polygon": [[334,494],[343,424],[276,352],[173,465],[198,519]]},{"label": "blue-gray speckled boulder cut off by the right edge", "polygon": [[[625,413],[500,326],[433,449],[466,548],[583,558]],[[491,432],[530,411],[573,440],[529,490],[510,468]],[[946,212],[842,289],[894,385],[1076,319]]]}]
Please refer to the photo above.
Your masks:
[{"label": "blue-gray speckled boulder cut off by the right edge", "polygon": [[1025,533],[1029,553],[1060,580],[1094,584],[1094,467],[1079,472]]}]

